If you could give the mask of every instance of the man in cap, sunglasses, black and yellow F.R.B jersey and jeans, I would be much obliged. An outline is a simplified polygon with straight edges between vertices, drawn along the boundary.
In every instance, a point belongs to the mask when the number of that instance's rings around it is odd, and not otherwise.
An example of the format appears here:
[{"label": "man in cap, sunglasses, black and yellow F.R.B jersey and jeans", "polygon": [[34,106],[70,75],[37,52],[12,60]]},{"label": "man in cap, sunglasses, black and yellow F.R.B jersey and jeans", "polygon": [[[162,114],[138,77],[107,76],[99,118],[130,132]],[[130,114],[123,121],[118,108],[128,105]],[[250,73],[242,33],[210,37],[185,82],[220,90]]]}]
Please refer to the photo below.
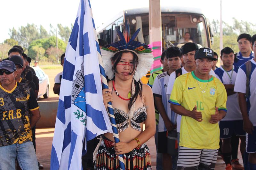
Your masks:
[{"label": "man in cap, sunglasses, black and yellow F.R.B jersey and jeans", "polygon": [[[34,91],[17,83],[12,61],[0,63],[0,169],[38,169],[31,127],[40,118]],[[30,115],[31,113],[31,115]]]}]

